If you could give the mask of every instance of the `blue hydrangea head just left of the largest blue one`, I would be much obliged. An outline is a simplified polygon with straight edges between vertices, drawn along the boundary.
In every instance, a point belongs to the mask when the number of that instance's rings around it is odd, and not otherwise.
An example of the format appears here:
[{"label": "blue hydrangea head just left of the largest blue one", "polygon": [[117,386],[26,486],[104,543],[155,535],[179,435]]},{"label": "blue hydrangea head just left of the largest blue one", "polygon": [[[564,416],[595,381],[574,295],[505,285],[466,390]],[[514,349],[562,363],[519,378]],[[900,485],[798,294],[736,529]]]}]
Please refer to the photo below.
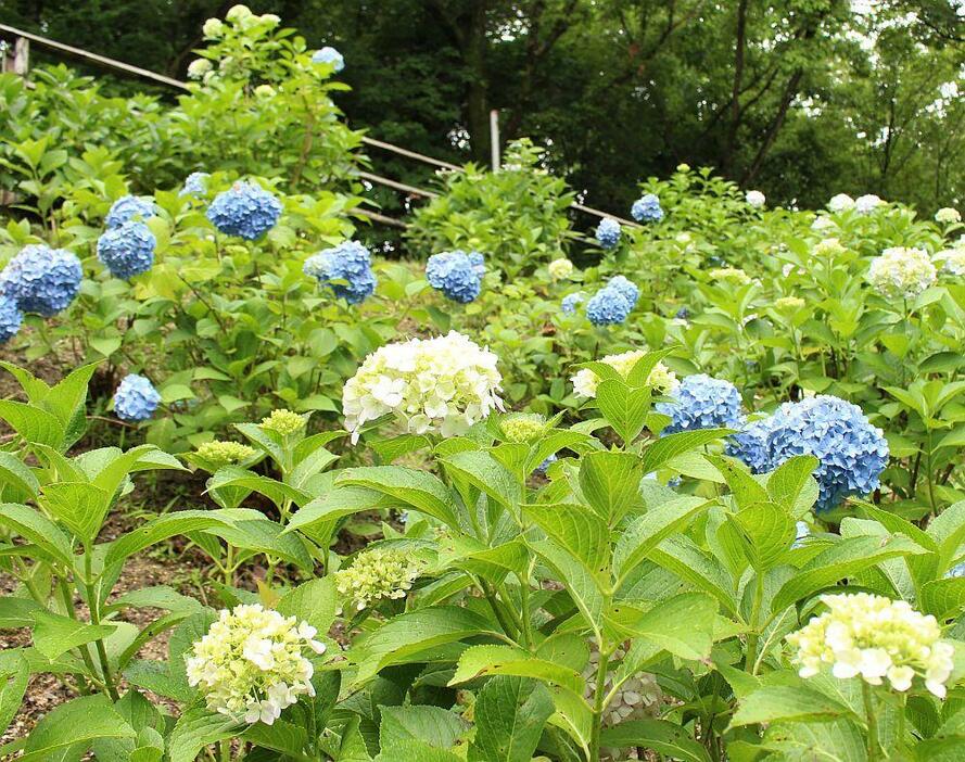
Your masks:
[{"label": "blue hydrangea head just left of the largest blue one", "polygon": [[736,429],[744,426],[740,393],[729,381],[707,373],[688,376],[669,395],[673,402],[657,403],[658,412],[671,417],[664,434],[695,429]]}]

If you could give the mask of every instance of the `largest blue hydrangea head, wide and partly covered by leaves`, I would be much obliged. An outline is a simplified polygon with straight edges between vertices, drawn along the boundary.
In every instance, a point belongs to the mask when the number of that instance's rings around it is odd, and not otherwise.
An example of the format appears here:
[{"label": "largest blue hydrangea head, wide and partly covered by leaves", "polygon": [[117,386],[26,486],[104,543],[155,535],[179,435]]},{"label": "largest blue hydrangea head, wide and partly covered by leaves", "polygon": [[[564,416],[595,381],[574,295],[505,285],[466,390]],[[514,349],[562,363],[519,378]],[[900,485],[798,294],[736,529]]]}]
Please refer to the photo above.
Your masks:
[{"label": "largest blue hydrangea head, wide and partly covered by leaves", "polygon": [[771,471],[796,455],[816,457],[818,513],[849,495],[877,490],[888,465],[888,443],[881,430],[872,426],[856,405],[827,394],[785,403],[771,418],[750,423],[735,436],[728,453],[756,473]]}]

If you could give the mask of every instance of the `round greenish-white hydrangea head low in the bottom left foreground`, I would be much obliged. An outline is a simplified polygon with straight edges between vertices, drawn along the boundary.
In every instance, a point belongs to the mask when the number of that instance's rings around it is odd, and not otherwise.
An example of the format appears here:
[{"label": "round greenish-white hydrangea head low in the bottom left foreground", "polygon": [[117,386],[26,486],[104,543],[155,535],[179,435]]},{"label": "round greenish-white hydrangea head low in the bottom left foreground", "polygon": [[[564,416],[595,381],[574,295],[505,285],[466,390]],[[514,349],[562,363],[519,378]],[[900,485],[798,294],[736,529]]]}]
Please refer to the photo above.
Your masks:
[{"label": "round greenish-white hydrangea head low in the bottom left foreground", "polygon": [[209,710],[270,725],[299,696],[315,696],[315,668],[304,655],[325,652],[316,632],[258,604],[224,610],[188,651],[188,683],[201,690]]}]

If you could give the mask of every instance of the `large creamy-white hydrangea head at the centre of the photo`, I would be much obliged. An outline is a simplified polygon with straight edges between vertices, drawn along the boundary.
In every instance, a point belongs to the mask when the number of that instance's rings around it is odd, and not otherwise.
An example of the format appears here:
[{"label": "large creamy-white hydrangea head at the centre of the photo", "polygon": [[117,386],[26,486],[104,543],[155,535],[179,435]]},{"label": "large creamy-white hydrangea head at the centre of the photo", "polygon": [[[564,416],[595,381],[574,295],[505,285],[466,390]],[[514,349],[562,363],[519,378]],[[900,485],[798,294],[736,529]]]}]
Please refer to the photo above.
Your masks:
[{"label": "large creamy-white hydrangea head at the centre of the photo", "polygon": [[494,409],[503,377],[497,357],[456,331],[386,344],[365,358],[342,390],[352,441],[366,421],[392,414],[409,432],[465,432]]}]

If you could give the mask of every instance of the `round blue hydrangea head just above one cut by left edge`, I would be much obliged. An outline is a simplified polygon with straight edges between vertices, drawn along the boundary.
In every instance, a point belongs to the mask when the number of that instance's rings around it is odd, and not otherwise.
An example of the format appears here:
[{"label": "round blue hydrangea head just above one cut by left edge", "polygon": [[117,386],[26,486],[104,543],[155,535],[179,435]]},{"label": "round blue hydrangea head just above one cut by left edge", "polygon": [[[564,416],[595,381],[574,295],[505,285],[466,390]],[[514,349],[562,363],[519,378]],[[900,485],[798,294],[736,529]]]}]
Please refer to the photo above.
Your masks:
[{"label": "round blue hydrangea head just above one cut by left edge", "polygon": [[31,243],[0,274],[0,293],[14,300],[23,313],[51,317],[74,301],[82,277],[80,259],[71,252]]}]

